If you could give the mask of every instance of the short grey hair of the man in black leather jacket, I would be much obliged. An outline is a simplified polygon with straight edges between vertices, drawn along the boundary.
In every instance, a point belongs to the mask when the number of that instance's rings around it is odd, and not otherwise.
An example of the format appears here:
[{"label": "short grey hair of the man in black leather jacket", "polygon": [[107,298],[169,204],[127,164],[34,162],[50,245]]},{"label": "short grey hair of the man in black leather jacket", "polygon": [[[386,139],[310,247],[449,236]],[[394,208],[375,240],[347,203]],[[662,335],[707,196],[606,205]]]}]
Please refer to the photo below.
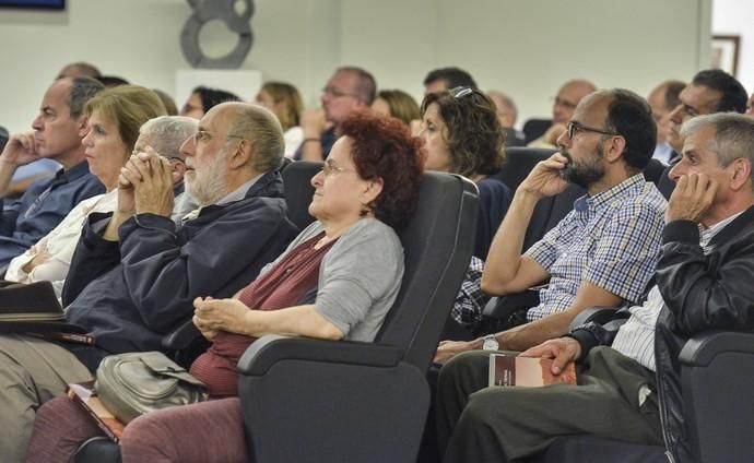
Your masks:
[{"label": "short grey hair of the man in black leather jacket", "polygon": [[715,112],[688,119],[681,127],[681,138],[696,133],[704,127],[715,129],[707,147],[717,153],[720,167],[735,159],[749,159],[754,166],[754,119],[737,112]]}]

